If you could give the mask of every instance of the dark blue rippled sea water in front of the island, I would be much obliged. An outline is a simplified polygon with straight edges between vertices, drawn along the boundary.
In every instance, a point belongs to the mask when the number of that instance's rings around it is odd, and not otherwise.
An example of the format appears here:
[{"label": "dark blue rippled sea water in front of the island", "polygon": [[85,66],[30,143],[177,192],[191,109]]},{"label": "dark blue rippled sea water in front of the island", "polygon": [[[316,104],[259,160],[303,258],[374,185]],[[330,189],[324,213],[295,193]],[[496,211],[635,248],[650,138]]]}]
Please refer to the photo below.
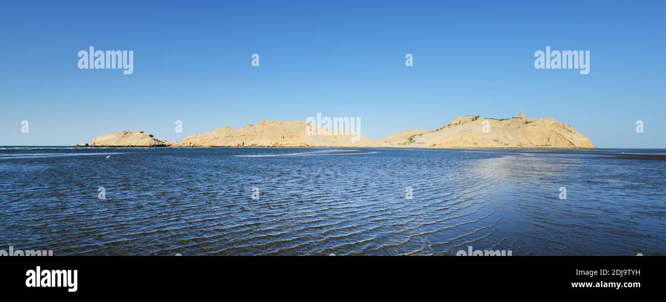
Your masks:
[{"label": "dark blue rippled sea water in front of the island", "polygon": [[2,147],[0,249],[455,255],[471,245],[513,255],[664,254],[665,156]]}]

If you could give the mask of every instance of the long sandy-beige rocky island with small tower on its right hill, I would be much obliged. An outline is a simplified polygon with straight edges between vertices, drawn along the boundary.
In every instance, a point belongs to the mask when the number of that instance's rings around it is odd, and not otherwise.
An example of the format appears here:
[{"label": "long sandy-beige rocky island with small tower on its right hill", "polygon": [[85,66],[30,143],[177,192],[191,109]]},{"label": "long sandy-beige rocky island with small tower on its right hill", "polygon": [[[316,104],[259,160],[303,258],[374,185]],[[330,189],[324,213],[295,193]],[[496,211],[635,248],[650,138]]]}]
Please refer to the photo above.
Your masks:
[{"label": "long sandy-beige rocky island with small tower on its right hill", "polygon": [[[458,116],[435,130],[405,130],[374,139],[346,134],[313,135],[306,122],[262,121],[187,136],[182,142],[157,140],[143,131],[121,131],[95,138],[89,146],[127,147],[352,147],[352,148],[595,148],[589,138],[555,118]],[[310,128],[312,129],[312,128]],[[326,132],[326,131],[324,131]],[[352,139],[355,138],[355,139]],[[85,146],[87,143],[77,146]]]}]

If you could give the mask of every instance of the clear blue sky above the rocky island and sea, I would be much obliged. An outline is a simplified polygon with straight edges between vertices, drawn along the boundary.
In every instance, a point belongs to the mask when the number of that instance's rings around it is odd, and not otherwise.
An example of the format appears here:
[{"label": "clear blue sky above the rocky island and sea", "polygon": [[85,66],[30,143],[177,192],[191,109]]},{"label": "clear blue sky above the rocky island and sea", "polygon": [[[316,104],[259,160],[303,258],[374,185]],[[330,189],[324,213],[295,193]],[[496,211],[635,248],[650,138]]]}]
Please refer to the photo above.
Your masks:
[{"label": "clear blue sky above the rocky island and sea", "polygon": [[[0,145],[172,141],[317,112],[380,138],[523,110],[600,148],[666,148],[663,1],[148,2],[4,1]],[[78,69],[90,46],[134,51],[133,75]],[[589,75],[535,69],[546,46],[589,50]]]}]

